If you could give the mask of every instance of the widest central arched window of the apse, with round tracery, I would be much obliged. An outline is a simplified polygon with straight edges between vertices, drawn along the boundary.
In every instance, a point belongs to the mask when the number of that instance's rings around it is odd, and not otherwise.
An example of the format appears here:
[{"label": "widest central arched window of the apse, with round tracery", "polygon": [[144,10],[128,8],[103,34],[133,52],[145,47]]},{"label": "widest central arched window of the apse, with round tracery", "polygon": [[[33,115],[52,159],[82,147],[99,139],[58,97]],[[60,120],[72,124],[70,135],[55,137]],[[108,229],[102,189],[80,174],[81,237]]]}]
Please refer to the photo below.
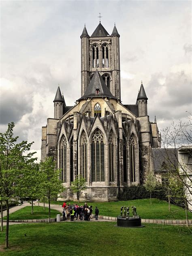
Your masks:
[{"label": "widest central arched window of the apse, with round tracery", "polygon": [[104,139],[102,132],[98,128],[92,136],[91,151],[92,181],[105,181]]}]

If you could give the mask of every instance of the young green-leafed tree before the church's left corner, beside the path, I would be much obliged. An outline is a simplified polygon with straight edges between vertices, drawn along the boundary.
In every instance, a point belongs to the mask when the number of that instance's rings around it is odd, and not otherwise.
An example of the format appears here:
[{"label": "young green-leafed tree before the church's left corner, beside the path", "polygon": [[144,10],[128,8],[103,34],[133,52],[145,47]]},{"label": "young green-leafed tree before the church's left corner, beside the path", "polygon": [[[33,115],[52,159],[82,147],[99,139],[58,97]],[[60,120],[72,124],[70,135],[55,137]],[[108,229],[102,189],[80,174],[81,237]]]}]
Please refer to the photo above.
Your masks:
[{"label": "young green-leafed tree before the church's left corner, beside the path", "polygon": [[49,202],[49,222],[51,215],[50,201],[57,197],[58,194],[64,191],[64,186],[60,180],[60,169],[55,170],[55,161],[52,157],[45,158],[45,162],[40,163],[40,175],[42,195],[48,199]]}]

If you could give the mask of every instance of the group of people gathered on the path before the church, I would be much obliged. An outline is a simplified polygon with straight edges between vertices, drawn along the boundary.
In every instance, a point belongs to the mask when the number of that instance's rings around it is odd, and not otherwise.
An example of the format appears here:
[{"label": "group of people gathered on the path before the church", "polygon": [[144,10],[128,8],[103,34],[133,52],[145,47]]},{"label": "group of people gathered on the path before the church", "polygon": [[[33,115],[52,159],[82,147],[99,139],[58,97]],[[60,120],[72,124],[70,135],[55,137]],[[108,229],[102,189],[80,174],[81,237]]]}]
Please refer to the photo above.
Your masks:
[{"label": "group of people gathered on the path before the church", "polygon": [[[63,205],[63,220],[70,218],[70,221],[74,221],[74,218],[78,220],[90,221],[92,219],[93,208],[92,205],[88,206],[87,203],[84,205],[71,205],[70,203],[64,202]],[[95,220],[98,220],[99,209],[95,207]]]}]

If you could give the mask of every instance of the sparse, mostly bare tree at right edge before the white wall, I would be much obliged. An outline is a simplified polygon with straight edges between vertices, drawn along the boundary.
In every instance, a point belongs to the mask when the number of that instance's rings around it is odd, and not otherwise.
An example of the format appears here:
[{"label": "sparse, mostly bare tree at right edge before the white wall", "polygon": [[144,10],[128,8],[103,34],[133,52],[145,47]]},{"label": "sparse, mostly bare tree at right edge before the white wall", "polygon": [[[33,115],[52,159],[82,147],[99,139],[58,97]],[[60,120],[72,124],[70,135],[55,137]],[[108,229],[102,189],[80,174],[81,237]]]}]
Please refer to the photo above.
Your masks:
[{"label": "sparse, mostly bare tree at right edge before the white wall", "polygon": [[167,186],[173,201],[176,204],[179,201],[183,202],[181,206],[186,211],[188,226],[188,211],[191,211],[192,205],[192,169],[189,163],[192,161],[192,115],[190,113],[186,122],[179,121],[178,124],[173,122],[170,127],[162,130],[162,147],[166,161],[164,172],[169,180]]}]

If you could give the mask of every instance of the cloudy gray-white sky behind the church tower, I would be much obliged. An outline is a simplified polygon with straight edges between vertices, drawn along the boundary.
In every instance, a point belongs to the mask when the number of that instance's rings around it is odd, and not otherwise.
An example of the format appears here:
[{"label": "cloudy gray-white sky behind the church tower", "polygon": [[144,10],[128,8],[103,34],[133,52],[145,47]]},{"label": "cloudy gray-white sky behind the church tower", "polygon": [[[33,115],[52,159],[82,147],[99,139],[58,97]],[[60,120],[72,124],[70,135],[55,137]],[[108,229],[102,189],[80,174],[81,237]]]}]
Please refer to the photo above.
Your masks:
[{"label": "cloudy gray-white sky behind the church tower", "polygon": [[[121,99],[135,104],[141,80],[159,130],[192,113],[191,1],[0,1],[0,132],[15,122],[34,141],[54,117],[60,84],[66,105],[81,96],[81,33],[99,23],[120,34]],[[188,112],[186,112],[188,111]]]}]

